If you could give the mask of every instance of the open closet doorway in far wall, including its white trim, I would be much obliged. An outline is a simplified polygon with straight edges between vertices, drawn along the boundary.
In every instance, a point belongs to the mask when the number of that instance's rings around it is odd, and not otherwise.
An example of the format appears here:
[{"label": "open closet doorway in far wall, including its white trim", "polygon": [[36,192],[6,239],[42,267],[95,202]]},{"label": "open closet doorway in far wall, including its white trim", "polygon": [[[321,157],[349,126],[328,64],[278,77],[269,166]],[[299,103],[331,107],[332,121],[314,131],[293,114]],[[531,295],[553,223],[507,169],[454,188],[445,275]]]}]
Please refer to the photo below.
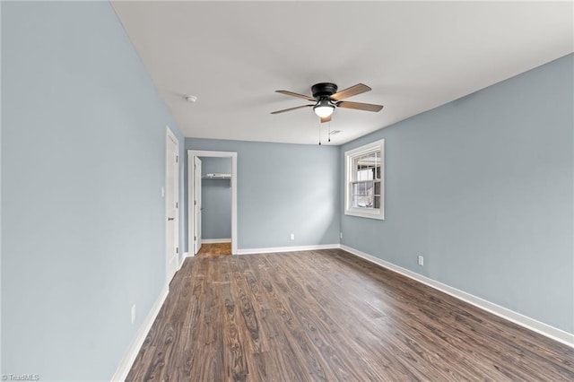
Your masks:
[{"label": "open closet doorway in far wall, including its white trim", "polygon": [[[201,254],[202,247],[207,246],[213,247],[216,254],[222,250],[223,242],[230,243],[230,254],[237,254],[237,152],[188,150],[187,180],[189,255]],[[203,187],[207,184],[211,188]],[[203,195],[202,189],[211,192]],[[225,195],[230,195],[227,209],[221,199],[213,200]],[[204,214],[212,213],[213,209],[219,209],[216,219]],[[218,224],[217,219],[223,219],[223,223]]]}]

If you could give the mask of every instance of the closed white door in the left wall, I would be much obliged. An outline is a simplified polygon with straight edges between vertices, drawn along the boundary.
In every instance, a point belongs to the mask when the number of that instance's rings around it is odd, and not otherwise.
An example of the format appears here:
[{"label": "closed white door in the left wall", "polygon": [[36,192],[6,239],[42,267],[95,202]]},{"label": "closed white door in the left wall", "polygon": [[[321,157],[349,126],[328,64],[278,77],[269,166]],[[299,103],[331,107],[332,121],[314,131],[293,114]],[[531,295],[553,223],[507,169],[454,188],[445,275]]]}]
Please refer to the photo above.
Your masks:
[{"label": "closed white door in the left wall", "polygon": [[166,214],[166,269],[168,283],[178,270],[178,209],[179,209],[179,143],[168,130],[166,138],[166,181],[165,181],[165,214]]}]

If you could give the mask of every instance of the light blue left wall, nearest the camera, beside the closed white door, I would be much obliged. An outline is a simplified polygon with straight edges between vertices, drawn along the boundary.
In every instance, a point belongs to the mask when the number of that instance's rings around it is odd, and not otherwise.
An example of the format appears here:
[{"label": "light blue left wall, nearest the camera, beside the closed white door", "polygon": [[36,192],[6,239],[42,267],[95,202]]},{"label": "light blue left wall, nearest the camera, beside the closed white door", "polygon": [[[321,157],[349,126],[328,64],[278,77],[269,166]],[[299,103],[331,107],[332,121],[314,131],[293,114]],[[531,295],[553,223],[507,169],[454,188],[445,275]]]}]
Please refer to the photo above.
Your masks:
[{"label": "light blue left wall, nearest the camera, beside the closed white door", "polygon": [[109,380],[166,282],[183,137],[109,3],[1,6],[1,372]]}]

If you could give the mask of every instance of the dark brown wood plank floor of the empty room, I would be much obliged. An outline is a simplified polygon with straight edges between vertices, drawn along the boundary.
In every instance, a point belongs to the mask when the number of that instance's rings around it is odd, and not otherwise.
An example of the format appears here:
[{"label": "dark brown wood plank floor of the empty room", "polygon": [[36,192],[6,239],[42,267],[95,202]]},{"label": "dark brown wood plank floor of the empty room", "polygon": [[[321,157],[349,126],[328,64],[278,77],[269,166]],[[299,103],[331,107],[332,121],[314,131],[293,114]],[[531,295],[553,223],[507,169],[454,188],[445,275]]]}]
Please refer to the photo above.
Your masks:
[{"label": "dark brown wood plank floor of the empty room", "polygon": [[188,258],[128,381],[574,380],[574,349],[342,250]]}]

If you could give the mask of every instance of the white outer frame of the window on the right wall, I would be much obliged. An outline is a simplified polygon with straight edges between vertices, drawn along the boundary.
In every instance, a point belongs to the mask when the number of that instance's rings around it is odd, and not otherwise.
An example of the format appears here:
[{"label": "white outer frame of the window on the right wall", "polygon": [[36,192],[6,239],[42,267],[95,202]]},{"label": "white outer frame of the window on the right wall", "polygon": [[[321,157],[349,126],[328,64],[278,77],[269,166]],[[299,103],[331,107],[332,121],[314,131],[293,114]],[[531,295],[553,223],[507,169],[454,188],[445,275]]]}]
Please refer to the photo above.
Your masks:
[{"label": "white outer frame of the window on the right wall", "polygon": [[[354,160],[363,155],[380,152],[380,208],[352,207],[352,174]],[[356,149],[344,152],[344,214],[362,218],[385,220],[385,140],[365,144]]]}]

